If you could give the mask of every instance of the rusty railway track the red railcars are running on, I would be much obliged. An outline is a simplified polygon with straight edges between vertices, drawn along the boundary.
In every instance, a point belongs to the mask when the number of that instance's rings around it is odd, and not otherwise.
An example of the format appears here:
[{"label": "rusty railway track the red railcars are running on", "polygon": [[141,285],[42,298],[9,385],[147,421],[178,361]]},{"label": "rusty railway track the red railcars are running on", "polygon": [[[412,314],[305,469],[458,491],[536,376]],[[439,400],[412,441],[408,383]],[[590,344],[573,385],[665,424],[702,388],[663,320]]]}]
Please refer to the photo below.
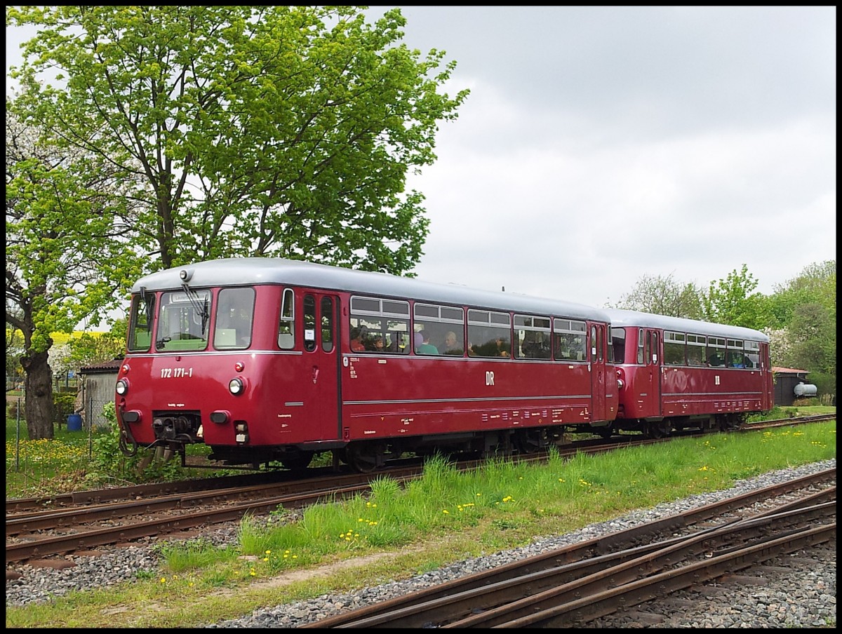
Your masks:
[{"label": "rusty railway track the red railcars are running on", "polygon": [[[818,420],[835,418],[834,415]],[[784,419],[754,424],[745,431],[813,422],[817,417]],[[610,440],[579,441],[562,448],[562,456],[600,453],[621,446],[646,445],[668,440],[640,440],[638,435]],[[546,456],[521,456],[520,461],[540,462]],[[482,461],[461,461],[457,468],[470,470]],[[418,477],[420,463],[390,469],[398,482]],[[6,562],[24,562],[99,546],[125,543],[152,535],[178,536],[204,525],[238,521],[246,514],[265,514],[279,507],[300,508],[325,499],[365,493],[370,474],[318,473],[305,480],[284,472],[211,478],[122,489],[74,493],[49,500],[11,500],[6,514]],[[45,508],[46,507],[46,508]],[[39,510],[33,510],[39,509]],[[187,535],[185,535],[187,536]]]}]

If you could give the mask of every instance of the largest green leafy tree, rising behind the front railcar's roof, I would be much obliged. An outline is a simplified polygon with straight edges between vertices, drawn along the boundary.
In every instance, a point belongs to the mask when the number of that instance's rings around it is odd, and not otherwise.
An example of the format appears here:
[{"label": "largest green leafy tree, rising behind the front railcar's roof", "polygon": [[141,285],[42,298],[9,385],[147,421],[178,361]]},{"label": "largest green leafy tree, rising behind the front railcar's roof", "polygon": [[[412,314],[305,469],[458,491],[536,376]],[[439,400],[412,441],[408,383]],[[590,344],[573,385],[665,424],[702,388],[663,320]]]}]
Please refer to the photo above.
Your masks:
[{"label": "largest green leafy tree, rising behind the front railcar's roof", "polygon": [[[31,24],[22,111],[131,174],[153,268],[238,256],[404,274],[429,220],[408,170],[467,96],[394,8],[62,6]],[[66,77],[53,87],[42,72]]]}]

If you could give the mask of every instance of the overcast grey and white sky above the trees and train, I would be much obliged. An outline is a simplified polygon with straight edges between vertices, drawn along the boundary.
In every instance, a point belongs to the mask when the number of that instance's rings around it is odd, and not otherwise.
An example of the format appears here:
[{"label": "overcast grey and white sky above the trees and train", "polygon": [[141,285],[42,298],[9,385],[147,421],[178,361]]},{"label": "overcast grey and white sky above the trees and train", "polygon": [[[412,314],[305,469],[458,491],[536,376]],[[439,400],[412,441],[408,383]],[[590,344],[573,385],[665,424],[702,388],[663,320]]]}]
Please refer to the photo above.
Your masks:
[{"label": "overcast grey and white sky above the trees and train", "polygon": [[747,264],[768,294],[836,258],[835,7],[402,13],[471,89],[409,180],[418,278],[605,306],[644,275]]}]

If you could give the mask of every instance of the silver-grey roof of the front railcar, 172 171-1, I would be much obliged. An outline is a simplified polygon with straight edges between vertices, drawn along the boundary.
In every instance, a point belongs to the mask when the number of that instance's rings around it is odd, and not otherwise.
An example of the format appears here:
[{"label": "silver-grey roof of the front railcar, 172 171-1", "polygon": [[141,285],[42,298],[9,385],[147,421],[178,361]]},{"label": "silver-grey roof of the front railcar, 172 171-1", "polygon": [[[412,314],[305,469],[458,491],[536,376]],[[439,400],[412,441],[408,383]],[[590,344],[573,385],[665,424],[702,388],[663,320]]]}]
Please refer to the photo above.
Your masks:
[{"label": "silver-grey roof of the front railcar, 172 171-1", "polygon": [[568,301],[502,291],[476,290],[455,284],[435,284],[392,274],[344,269],[284,258],[228,258],[188,264],[149,274],[137,280],[131,287],[131,292],[140,292],[141,286],[150,291],[180,289],[182,280],[179,274],[182,270],[189,272],[189,286],[193,289],[209,286],[296,285],[609,322],[604,310]]}]

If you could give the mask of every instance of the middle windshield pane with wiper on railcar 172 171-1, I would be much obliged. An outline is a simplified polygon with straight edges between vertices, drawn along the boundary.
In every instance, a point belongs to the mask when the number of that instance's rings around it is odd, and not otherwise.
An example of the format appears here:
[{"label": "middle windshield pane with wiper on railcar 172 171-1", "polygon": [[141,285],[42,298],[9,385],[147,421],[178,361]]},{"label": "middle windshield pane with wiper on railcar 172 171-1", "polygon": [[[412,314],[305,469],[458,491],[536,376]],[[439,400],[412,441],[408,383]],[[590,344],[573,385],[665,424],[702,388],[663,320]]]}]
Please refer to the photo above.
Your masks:
[{"label": "middle windshield pane with wiper on railcar 172 171-1", "polygon": [[209,290],[162,293],[155,349],[204,350],[208,344],[209,321]]}]

